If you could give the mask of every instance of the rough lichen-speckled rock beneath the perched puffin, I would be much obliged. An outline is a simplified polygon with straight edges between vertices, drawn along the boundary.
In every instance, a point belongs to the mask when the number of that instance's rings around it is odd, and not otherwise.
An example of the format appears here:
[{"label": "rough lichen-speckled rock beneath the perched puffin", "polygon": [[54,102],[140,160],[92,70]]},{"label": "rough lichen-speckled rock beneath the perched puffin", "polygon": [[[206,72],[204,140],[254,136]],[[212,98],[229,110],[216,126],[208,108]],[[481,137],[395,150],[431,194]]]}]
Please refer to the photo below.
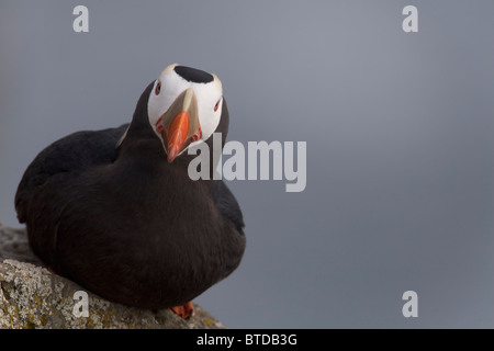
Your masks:
[{"label": "rough lichen-speckled rock beneath the perched puffin", "polygon": [[[225,328],[200,306],[184,320],[169,309],[144,310],[90,292],[88,317],[79,316],[78,284],[49,272],[32,253],[24,230],[0,224],[0,328]],[[75,298],[76,297],[76,298]]]}]

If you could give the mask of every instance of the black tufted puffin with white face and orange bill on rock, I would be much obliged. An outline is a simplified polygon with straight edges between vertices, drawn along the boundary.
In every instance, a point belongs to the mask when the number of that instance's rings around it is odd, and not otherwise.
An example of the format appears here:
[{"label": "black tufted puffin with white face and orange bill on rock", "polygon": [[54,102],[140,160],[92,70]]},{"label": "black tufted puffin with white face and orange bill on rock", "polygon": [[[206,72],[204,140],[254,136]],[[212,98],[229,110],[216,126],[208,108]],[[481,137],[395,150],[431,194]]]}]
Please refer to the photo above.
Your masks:
[{"label": "black tufted puffin with white face and orange bill on rock", "polygon": [[[214,73],[173,64],[148,84],[130,124],[70,134],[42,150],[15,194],[33,252],[115,303],[172,308],[240,263],[240,207],[222,180],[191,180],[187,149],[223,145],[229,115]],[[210,152],[213,154],[213,152]]]}]

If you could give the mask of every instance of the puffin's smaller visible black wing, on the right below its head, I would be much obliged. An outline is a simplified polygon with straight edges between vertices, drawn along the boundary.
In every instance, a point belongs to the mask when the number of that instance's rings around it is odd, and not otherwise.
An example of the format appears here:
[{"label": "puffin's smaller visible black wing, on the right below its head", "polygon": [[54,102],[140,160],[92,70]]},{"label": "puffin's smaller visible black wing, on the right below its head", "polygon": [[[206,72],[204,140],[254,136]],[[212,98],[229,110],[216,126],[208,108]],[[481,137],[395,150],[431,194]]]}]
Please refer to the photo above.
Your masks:
[{"label": "puffin's smaller visible black wing, on the right below its head", "polygon": [[244,234],[245,224],[240,206],[223,180],[213,181],[213,200],[223,217],[229,219],[238,233]]}]

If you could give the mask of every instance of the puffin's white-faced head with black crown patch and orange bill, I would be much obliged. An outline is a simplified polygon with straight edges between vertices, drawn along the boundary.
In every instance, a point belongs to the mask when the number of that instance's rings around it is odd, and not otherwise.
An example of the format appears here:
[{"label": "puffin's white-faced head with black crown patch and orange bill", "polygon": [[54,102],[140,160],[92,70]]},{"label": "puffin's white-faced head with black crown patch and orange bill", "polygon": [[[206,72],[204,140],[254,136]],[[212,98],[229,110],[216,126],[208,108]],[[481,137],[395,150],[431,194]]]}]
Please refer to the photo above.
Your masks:
[{"label": "puffin's white-faced head with black crown patch and orange bill", "polygon": [[149,93],[147,115],[168,162],[207,140],[220,124],[222,110],[222,82],[214,73],[178,64],[165,68]]}]

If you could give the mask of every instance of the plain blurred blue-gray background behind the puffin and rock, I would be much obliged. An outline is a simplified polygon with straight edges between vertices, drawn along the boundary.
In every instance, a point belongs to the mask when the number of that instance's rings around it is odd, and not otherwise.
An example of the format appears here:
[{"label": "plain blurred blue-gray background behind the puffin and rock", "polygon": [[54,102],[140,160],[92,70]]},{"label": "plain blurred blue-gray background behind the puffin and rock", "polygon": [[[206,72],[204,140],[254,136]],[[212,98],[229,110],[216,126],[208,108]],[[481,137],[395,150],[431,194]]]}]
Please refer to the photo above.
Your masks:
[{"label": "plain blurred blue-gray background behind the puffin and rock", "polygon": [[[72,9],[89,8],[87,34]],[[402,9],[418,8],[418,33]],[[231,328],[494,327],[494,2],[0,3],[0,222],[37,152],[216,72],[231,140],[307,141],[307,188],[235,181],[248,247],[195,302]],[[418,294],[418,318],[402,294]]]}]

